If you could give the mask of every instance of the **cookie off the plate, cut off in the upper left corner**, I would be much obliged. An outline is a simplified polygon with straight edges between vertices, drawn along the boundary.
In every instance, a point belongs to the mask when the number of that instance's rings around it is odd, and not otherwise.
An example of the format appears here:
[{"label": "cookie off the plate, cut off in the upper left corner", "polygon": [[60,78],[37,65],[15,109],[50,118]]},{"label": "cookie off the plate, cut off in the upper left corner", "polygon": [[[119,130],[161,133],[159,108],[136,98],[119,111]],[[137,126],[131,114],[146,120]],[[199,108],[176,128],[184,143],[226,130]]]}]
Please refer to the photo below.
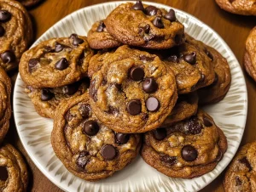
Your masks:
[{"label": "cookie off the plate, cut off in the upper left corner", "polygon": [[0,66],[5,71],[18,67],[21,55],[32,42],[32,22],[26,9],[12,0],[0,1]]}]

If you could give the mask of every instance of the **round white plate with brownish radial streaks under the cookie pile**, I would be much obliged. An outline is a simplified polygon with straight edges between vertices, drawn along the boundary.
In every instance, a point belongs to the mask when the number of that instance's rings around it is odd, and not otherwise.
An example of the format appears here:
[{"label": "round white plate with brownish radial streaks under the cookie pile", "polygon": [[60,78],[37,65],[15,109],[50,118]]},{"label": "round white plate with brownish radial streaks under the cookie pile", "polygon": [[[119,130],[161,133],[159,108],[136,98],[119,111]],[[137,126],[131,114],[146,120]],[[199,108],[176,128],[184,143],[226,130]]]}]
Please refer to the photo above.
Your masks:
[{"label": "round white plate with brownish radial streaks under the cookie pile", "polygon": [[[68,37],[73,32],[86,36],[96,20],[106,18],[120,3],[124,2],[102,3],[82,8],[52,26],[33,46],[51,37]],[[148,4],[170,8],[159,3]],[[192,15],[177,9],[176,11],[177,18],[185,25],[186,32],[218,49],[230,65],[232,83],[229,93],[220,103],[205,108],[228,138],[229,148],[223,160],[212,172],[189,180],[168,178],[149,167],[141,157],[137,157],[130,166],[116,172],[111,178],[95,183],[86,182],[68,172],[55,156],[50,144],[53,121],[38,116],[31,100],[24,93],[24,83],[18,76],[14,93],[14,113],[20,140],[41,172],[61,189],[69,192],[197,191],[210,184],[230,163],[241,142],[247,119],[247,88],[241,67],[228,45],[215,31]]]}]

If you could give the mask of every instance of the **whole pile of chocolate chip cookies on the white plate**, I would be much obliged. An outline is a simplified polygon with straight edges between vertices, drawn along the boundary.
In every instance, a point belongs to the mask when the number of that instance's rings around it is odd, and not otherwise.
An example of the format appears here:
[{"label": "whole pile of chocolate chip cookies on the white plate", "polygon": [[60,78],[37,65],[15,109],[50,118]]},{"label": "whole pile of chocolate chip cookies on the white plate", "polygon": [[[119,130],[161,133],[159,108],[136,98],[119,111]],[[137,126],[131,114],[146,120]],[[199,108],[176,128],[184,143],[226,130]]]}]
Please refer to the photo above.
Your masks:
[{"label": "whole pile of chocolate chip cookies on the white plate", "polygon": [[185,34],[173,9],[123,3],[88,38],[54,38],[27,51],[20,76],[38,114],[54,119],[55,154],[79,178],[107,178],[139,152],[169,177],[195,178],[227,149],[198,105],[224,99],[229,65]]}]

